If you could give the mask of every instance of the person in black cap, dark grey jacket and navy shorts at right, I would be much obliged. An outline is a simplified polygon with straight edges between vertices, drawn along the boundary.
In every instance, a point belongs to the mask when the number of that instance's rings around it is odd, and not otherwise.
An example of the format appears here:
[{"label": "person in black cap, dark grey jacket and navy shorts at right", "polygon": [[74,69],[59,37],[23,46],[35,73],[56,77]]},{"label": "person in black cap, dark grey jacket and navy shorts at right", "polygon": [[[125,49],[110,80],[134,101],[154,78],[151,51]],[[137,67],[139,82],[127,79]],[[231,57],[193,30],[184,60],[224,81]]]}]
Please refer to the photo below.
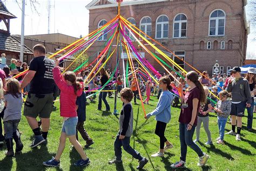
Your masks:
[{"label": "person in black cap, dark grey jacket and navy shorts at right", "polygon": [[[227,91],[232,92],[230,113],[232,118],[232,130],[226,134],[236,134],[235,140],[240,141],[242,117],[245,116],[245,108],[250,108],[252,98],[248,81],[244,79],[244,77],[241,77],[241,69],[239,67],[234,67],[232,73],[233,76],[228,80],[227,86]],[[235,125],[237,125],[237,133],[235,133]]]}]

